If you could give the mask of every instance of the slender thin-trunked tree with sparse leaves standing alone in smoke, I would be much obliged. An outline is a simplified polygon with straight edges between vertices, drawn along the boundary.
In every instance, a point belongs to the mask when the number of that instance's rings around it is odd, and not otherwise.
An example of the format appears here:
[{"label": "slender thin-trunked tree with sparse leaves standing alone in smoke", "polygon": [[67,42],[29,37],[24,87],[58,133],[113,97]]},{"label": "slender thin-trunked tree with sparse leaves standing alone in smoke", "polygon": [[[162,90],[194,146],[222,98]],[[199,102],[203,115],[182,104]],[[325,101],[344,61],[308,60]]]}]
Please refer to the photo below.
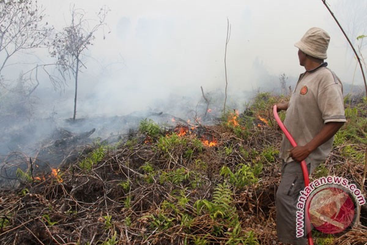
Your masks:
[{"label": "slender thin-trunked tree with sparse leaves standing alone in smoke", "polygon": [[[74,114],[73,120],[76,116],[76,100],[78,90],[78,75],[81,68],[87,68],[83,63],[84,51],[90,45],[93,45],[95,33],[97,30],[106,26],[105,18],[108,13],[108,8],[103,6],[100,8],[97,17],[97,24],[90,27],[92,20],[86,19],[85,11],[82,9],[72,8],[71,23],[65,27],[61,32],[55,35],[52,42],[50,54],[57,58],[57,66],[61,75],[65,78],[65,74],[72,74],[75,80],[75,97],[74,97]],[[105,35],[103,34],[103,39]]]}]

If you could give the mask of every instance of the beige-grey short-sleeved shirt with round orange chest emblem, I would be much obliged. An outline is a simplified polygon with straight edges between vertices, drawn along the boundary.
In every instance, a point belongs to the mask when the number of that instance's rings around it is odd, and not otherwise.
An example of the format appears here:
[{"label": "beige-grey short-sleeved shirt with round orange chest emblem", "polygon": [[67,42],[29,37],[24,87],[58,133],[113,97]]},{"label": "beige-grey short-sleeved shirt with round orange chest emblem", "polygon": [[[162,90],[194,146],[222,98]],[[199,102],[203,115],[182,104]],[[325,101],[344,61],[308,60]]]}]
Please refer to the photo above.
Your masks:
[{"label": "beige-grey short-sleeved shirt with round orange chest emblem", "polygon": [[[284,126],[297,145],[303,146],[311,141],[325,123],[346,122],[342,84],[326,66],[324,62],[318,68],[302,73],[289,101]],[[311,163],[310,173],[329,155],[333,141],[334,137],[305,159]],[[292,145],[283,134],[280,158],[284,162],[293,161],[287,151],[291,148]]]}]

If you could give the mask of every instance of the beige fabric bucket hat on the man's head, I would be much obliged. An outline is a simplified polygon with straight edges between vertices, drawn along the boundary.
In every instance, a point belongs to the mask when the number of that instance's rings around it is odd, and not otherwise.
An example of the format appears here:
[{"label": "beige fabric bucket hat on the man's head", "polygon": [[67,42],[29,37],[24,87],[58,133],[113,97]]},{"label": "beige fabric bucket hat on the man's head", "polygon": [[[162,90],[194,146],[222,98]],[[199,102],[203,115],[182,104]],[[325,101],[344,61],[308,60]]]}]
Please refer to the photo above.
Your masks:
[{"label": "beige fabric bucket hat on the man's head", "polygon": [[327,58],[326,50],[329,42],[330,36],[325,30],[312,27],[294,46],[312,57],[325,60]]}]

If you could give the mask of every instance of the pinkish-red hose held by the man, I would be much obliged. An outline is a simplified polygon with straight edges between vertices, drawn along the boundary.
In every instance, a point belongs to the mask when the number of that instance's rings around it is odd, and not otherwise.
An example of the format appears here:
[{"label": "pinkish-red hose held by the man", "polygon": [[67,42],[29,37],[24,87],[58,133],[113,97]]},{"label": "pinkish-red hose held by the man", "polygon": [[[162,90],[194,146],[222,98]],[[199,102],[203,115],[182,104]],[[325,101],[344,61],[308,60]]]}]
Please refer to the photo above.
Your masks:
[{"label": "pinkish-red hose held by the man", "polygon": [[[274,105],[273,107],[273,113],[274,113],[274,117],[276,122],[278,123],[281,131],[283,131],[283,133],[285,134],[285,136],[287,137],[287,139],[289,140],[289,142],[291,143],[292,147],[296,147],[297,143],[294,141],[294,138],[291,136],[291,134],[289,133],[289,131],[286,129],[286,127],[284,126],[284,124],[281,122],[279,116],[278,116],[278,112],[277,112],[277,108],[276,105]],[[301,162],[301,168],[302,168],[302,173],[303,173],[303,179],[305,181],[305,187],[309,185],[310,180],[308,178],[308,170],[307,170],[307,166],[306,166],[306,161],[303,160]],[[306,219],[306,227],[310,227],[310,224],[308,222],[308,209],[306,207],[306,215],[305,215],[305,219]],[[308,240],[308,244],[309,245],[313,245],[313,240],[312,240],[312,233],[310,231],[310,229],[306,229],[308,231],[307,233],[307,240]]]}]

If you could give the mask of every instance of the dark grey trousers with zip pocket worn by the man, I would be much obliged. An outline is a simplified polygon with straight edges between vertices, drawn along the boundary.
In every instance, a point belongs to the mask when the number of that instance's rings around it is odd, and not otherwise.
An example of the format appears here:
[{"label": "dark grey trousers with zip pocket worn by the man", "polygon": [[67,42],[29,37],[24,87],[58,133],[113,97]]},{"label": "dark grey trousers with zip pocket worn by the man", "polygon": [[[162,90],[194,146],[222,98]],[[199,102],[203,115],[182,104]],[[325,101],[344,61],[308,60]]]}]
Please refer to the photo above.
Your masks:
[{"label": "dark grey trousers with zip pocket worn by the man", "polygon": [[[310,170],[310,163],[307,165]],[[279,241],[288,244],[307,244],[306,237],[296,238],[296,211],[299,192],[305,182],[299,162],[282,163],[281,181],[276,192],[276,231]]]}]

